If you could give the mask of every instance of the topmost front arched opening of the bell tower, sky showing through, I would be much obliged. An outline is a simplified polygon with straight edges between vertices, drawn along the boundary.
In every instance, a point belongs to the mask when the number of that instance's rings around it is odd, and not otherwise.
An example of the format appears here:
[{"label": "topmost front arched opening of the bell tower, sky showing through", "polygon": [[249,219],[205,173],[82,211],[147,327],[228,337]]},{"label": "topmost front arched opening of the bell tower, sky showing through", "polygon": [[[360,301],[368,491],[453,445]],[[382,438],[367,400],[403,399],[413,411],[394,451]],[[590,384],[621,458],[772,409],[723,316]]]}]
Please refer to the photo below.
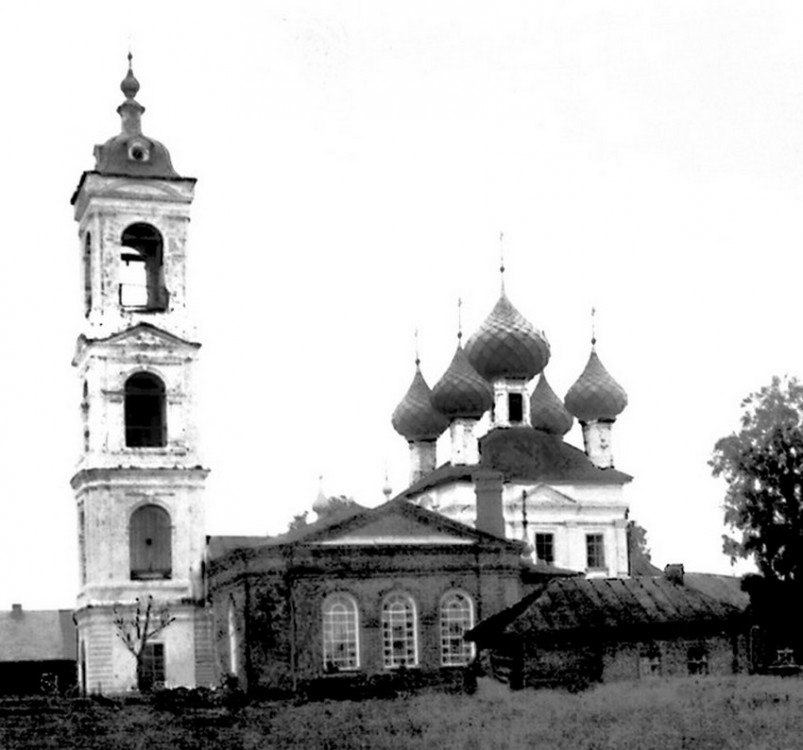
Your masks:
[{"label": "topmost front arched opening of the bell tower, sky showing through", "polygon": [[120,306],[140,312],[167,309],[162,235],[150,224],[132,224],[120,238]]}]

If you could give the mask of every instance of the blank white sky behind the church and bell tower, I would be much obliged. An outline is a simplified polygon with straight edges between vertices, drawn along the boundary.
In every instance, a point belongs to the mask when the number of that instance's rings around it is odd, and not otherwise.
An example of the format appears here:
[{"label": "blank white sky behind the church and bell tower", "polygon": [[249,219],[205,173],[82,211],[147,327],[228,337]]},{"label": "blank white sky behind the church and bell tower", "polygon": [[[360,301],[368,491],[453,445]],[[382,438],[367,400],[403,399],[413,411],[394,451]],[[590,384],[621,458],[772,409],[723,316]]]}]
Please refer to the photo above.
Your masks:
[{"label": "blank white sky behind the church and bell tower", "polygon": [[[390,415],[499,294],[629,394],[614,425],[653,561],[739,572],[708,461],[740,402],[800,375],[803,5],[7,2],[0,8],[0,607],[69,608],[80,247],[70,196],[119,132],[198,178],[211,534],[278,533],[319,488],[408,480]],[[582,445],[579,428],[568,439]]]}]

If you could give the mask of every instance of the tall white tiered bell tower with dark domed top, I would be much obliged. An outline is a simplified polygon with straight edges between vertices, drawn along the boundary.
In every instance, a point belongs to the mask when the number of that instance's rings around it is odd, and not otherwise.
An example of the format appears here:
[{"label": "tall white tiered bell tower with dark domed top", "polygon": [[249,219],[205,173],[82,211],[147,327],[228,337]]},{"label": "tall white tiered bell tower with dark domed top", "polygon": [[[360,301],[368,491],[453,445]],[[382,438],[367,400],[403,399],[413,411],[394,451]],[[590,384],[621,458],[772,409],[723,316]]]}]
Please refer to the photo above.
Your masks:
[{"label": "tall white tiered bell tower with dark domed top", "polygon": [[119,135],[95,147],[72,197],[84,324],[73,365],[83,449],[78,510],[79,679],[88,692],[136,687],[115,619],[152,598],[172,622],[146,645],[147,682],[212,680],[203,607],[203,490],[193,376],[200,344],[186,306],[186,243],[195,179],[142,133],[129,68]]}]

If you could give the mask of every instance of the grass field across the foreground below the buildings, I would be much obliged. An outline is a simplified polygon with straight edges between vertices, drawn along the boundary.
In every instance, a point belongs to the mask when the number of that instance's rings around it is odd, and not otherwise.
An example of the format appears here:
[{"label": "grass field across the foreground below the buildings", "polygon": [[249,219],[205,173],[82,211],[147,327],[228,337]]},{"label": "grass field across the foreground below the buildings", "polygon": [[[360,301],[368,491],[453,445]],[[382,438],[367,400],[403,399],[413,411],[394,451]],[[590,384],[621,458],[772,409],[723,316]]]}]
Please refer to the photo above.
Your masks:
[{"label": "grass field across the foreground below the buildings", "polygon": [[427,694],[360,703],[261,703],[183,709],[38,699],[0,703],[0,748],[803,747],[803,680],[699,678],[603,685],[585,693]]}]

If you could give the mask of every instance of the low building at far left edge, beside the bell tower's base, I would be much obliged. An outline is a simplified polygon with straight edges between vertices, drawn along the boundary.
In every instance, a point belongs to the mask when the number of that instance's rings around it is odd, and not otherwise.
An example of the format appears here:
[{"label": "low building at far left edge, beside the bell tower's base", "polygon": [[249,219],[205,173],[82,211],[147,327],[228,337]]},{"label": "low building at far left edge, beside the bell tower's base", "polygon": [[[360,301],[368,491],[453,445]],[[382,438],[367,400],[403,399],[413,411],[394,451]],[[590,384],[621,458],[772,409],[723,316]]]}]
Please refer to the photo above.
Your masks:
[{"label": "low building at far left edge, beside the bell tower's base", "polygon": [[64,692],[76,685],[76,636],[72,612],[0,612],[0,694]]}]

